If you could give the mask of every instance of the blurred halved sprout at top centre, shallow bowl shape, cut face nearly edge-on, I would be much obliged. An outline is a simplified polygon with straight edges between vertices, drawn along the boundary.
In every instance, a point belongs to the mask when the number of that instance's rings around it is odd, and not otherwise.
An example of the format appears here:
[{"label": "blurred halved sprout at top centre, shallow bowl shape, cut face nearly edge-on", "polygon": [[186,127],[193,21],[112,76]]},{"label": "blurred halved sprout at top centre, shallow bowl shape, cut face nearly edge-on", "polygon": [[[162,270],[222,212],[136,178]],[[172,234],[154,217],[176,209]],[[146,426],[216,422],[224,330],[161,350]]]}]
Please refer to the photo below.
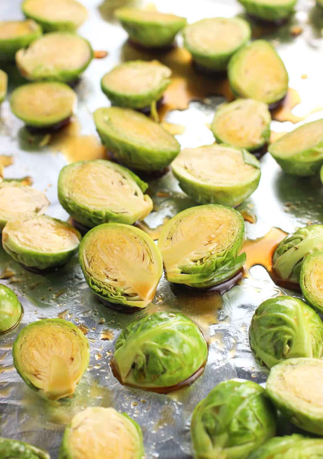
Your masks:
[{"label": "blurred halved sprout at top centre, shallow bowl shape, cut face nearly edge-on", "polygon": [[118,8],[115,16],[129,39],[147,48],[172,45],[176,34],[186,25],[184,17],[130,7]]}]

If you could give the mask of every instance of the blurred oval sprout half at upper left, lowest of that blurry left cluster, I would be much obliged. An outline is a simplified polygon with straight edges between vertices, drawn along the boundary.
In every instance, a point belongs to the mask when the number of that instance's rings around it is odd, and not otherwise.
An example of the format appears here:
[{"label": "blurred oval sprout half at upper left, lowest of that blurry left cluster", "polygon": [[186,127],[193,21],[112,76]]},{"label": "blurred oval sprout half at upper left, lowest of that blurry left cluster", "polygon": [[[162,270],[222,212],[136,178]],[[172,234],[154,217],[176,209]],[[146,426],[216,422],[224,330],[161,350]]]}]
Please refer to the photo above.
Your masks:
[{"label": "blurred oval sprout half at upper left, lowest of that blurry left cluster", "polygon": [[65,83],[41,81],[18,86],[11,94],[11,111],[29,126],[48,128],[69,118],[76,93]]}]

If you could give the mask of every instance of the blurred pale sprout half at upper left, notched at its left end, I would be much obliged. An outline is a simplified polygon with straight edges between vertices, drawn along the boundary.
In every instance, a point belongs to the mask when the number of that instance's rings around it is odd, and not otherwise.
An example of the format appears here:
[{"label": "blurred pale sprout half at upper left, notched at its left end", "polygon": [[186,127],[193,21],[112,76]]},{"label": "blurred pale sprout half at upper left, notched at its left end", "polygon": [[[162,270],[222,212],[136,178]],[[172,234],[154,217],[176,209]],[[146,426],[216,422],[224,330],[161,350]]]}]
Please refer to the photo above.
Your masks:
[{"label": "blurred pale sprout half at upper left, notched at its left end", "polygon": [[75,81],[88,67],[93,50],[88,40],[68,32],[45,34],[16,54],[19,72],[28,80]]}]

